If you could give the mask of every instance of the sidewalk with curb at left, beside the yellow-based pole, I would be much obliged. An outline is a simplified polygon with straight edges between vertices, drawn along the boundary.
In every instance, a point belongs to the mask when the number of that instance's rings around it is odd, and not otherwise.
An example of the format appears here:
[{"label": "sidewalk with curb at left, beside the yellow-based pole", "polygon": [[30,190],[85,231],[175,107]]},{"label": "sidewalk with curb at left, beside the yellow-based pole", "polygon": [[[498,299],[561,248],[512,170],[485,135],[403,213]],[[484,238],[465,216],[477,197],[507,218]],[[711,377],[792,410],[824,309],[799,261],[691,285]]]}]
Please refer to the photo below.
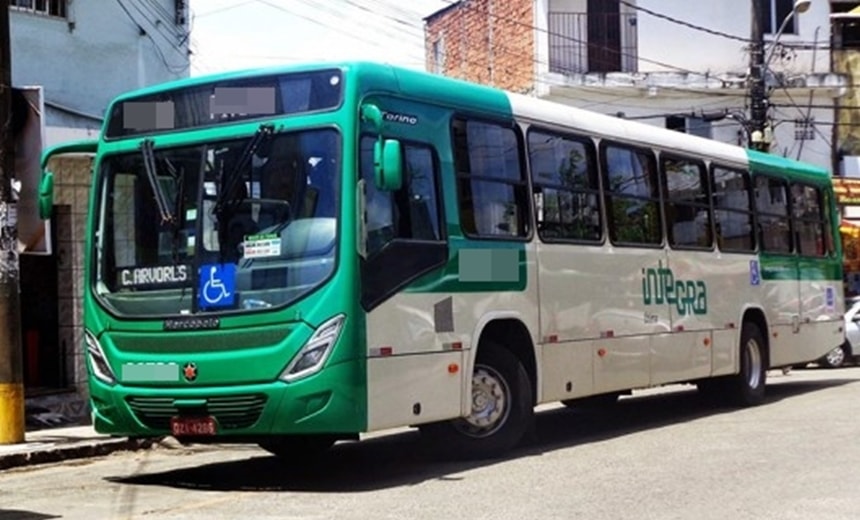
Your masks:
[{"label": "sidewalk with curb at left, beside the yellow-based pole", "polygon": [[18,466],[97,457],[115,451],[149,448],[152,439],[109,437],[92,426],[69,426],[28,431],[21,444],[0,445],[0,471]]}]

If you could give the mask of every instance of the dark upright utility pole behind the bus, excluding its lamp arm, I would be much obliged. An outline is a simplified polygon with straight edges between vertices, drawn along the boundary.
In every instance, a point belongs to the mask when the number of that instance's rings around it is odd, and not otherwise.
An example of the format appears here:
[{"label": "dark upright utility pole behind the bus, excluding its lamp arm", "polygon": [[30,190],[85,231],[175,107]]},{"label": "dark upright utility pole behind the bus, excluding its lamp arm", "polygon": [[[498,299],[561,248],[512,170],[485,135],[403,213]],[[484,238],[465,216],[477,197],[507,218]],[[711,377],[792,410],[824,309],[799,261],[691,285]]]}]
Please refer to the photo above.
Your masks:
[{"label": "dark upright utility pole behind the bus, excluding its lamp arm", "polygon": [[766,140],[768,125],[768,94],[765,86],[764,63],[764,2],[752,0],[752,25],[750,32],[750,128],[748,128],[749,147],[767,152],[770,148]]}]

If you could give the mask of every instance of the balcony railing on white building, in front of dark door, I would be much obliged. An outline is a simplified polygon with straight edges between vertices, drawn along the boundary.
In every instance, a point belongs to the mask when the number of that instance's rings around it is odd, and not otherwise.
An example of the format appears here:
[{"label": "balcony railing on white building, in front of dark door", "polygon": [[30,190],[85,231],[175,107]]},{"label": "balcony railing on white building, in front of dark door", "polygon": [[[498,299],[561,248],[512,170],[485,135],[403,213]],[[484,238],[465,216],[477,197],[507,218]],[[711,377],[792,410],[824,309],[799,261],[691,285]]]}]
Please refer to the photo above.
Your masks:
[{"label": "balcony railing on white building, in front of dark door", "polygon": [[549,70],[636,72],[636,14],[549,13]]}]

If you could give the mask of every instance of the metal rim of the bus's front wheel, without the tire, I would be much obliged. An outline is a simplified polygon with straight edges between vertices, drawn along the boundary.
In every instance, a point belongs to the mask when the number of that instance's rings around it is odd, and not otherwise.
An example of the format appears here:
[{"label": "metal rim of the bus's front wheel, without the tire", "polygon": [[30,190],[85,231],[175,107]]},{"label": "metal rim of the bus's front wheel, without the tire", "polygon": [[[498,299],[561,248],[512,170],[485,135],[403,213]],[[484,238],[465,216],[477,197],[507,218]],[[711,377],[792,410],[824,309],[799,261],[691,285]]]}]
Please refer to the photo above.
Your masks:
[{"label": "metal rim of the bus's front wheel, without the tire", "polygon": [[492,367],[478,365],[472,376],[472,412],[457,428],[472,437],[495,433],[510,413],[510,388]]}]

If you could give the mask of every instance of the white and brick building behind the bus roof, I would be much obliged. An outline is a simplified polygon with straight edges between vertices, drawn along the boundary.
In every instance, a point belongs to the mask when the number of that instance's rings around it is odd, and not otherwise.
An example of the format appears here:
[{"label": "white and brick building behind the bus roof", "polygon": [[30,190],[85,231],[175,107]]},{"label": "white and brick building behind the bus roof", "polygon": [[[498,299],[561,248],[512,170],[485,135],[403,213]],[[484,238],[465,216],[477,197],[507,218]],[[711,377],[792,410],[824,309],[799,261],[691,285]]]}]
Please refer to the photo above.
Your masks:
[{"label": "white and brick building behind the bus roof", "polygon": [[[461,0],[425,19],[427,69],[746,145],[753,20],[772,153],[833,168],[832,3]],[[855,2],[856,4],[856,2]],[[754,16],[758,13],[757,16]]]}]

